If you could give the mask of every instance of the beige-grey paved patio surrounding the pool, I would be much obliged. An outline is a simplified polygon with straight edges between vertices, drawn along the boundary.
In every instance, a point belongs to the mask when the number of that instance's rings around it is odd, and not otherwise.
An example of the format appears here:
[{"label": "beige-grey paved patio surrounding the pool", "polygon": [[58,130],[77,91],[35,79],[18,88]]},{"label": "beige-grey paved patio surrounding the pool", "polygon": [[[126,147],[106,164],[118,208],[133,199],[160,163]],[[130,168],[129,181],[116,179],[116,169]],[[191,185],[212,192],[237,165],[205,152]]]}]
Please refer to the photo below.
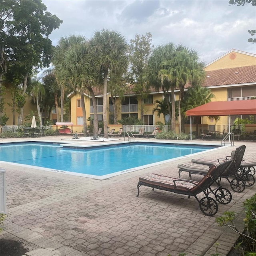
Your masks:
[{"label": "beige-grey paved patio surrounding the pool", "polygon": [[[58,141],[60,137],[43,139]],[[1,139],[1,142],[12,140],[17,139]],[[256,142],[247,141],[237,141],[235,146],[202,153],[200,157],[223,158],[243,144],[246,161],[255,161]],[[238,234],[219,227],[215,218],[225,211],[234,211],[242,231],[243,202],[256,193],[255,185],[235,193],[223,180],[222,185],[232,192],[232,201],[219,204],[213,217],[200,211],[195,198],[152,191],[144,186],[136,197],[139,176],[155,172],[178,177],[177,165],[192,158],[107,180],[1,164],[6,169],[8,209],[1,239],[23,240],[29,247],[26,256],[176,256],[179,252],[210,256],[216,252],[216,242],[220,244],[220,256],[226,255]],[[182,178],[188,178],[188,174],[182,173]],[[200,178],[194,176],[195,180]]]}]

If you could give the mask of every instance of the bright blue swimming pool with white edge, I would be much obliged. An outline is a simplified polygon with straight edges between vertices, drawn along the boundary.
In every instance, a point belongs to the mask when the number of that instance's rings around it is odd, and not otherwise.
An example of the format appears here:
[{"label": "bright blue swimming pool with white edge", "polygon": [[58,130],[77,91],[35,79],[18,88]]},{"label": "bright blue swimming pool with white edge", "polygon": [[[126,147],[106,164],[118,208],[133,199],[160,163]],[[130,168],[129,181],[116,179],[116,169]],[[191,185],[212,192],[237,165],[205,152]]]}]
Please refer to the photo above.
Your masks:
[{"label": "bright blue swimming pool with white edge", "polygon": [[161,164],[170,159],[211,150],[216,146],[144,143],[76,147],[71,144],[20,142],[1,144],[1,161],[37,166],[90,178],[105,179]]}]

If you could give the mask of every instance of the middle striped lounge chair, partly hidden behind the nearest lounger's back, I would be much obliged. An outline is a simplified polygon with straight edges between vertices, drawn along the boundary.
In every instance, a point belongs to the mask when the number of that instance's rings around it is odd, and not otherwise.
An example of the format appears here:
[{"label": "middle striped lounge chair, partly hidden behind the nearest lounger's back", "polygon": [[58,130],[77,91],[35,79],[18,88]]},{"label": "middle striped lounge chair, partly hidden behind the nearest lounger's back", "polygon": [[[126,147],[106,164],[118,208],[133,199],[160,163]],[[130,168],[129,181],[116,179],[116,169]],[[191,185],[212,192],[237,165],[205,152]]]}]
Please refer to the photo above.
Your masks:
[{"label": "middle striped lounge chair, partly hidden behind the nearest lounger's back", "polygon": [[[245,146],[242,145],[234,151],[234,156],[232,164],[225,172],[222,173],[220,178],[226,178],[230,183],[232,190],[235,192],[242,192],[245,189],[245,186],[252,186],[255,183],[254,177],[241,168],[241,162],[245,152]],[[226,161],[225,161],[226,162]],[[208,165],[198,164],[194,162],[188,162],[186,164],[178,164],[179,168],[179,177],[181,172],[188,172],[190,179],[191,174],[200,174],[206,175],[209,170]]]}]

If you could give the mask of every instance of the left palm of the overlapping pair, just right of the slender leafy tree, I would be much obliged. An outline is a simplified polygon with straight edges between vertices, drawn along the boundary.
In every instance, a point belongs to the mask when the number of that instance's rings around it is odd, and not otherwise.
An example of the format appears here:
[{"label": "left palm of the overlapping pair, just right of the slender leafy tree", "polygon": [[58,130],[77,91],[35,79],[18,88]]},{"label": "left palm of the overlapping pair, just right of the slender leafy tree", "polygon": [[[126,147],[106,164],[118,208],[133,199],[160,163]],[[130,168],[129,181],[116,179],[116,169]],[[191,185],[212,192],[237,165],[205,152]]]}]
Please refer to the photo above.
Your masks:
[{"label": "left palm of the overlapping pair, just right of the slender leafy tree", "polygon": [[[174,57],[175,46],[172,43],[156,47],[148,60],[147,85],[156,90],[162,89],[164,98],[167,98],[166,92],[171,90],[172,110],[175,109],[174,82],[169,72],[169,61]],[[172,131],[175,132],[175,111],[171,111],[169,100],[167,100],[168,111],[171,118]]]}]

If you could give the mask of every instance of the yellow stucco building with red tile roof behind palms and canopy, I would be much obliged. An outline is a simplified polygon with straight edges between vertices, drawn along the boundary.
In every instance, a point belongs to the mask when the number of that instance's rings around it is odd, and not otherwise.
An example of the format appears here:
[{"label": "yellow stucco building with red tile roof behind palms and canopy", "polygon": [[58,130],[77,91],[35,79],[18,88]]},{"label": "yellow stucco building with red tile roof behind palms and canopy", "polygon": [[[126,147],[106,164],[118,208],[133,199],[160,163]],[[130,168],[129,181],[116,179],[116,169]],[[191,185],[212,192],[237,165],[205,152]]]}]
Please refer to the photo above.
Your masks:
[{"label": "yellow stucco building with red tile roof behind palms and canopy", "polygon": [[[256,97],[256,54],[242,52],[239,50],[230,50],[223,54],[216,60],[210,62],[206,68],[206,79],[203,86],[211,89],[212,93],[216,96],[212,101],[227,101],[227,100],[242,100]],[[81,98],[79,95],[71,93],[68,95],[71,100],[71,122],[79,132],[82,130],[82,107]],[[87,118],[93,117],[92,99],[90,95],[84,94],[86,103]],[[96,93],[98,120],[102,121],[102,105],[103,94]],[[117,98],[116,111],[117,120],[125,116],[136,116],[140,118],[141,107],[143,108],[143,121],[144,124],[156,124],[156,122],[164,123],[164,118],[161,115],[157,116],[157,112],[152,113],[154,108],[154,101],[163,99],[163,92],[151,91],[148,97],[144,99],[143,106],[141,105],[140,97],[135,94],[125,94],[122,102]],[[175,100],[178,100],[178,90],[175,91]],[[112,108],[110,94],[108,94],[108,126],[110,128],[117,128],[113,125]],[[226,116],[220,117],[218,124],[227,124],[228,118]],[[234,120],[236,117],[232,117]],[[243,117],[246,118],[246,117]],[[207,117],[202,118],[203,124],[215,124],[213,120]],[[87,121],[87,124],[89,122]],[[120,127],[120,125],[118,125]]]}]

